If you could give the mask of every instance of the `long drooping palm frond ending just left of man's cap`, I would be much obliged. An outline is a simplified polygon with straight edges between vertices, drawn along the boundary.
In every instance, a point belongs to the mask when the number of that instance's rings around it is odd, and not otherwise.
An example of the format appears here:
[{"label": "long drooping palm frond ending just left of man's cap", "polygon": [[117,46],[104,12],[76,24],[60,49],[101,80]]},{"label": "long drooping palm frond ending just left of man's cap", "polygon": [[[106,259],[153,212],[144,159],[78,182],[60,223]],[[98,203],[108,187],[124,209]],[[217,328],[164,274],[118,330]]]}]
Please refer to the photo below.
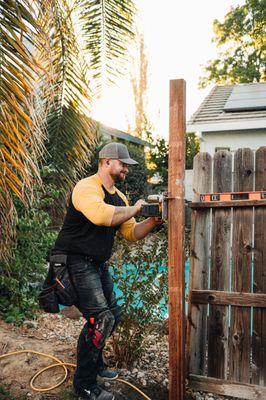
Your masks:
[{"label": "long drooping palm frond ending just left of man's cap", "polygon": [[68,2],[56,2],[53,16],[47,25],[53,100],[47,116],[46,161],[58,171],[57,182],[68,188],[89,163],[96,128],[89,118],[88,65],[74,35]]}]

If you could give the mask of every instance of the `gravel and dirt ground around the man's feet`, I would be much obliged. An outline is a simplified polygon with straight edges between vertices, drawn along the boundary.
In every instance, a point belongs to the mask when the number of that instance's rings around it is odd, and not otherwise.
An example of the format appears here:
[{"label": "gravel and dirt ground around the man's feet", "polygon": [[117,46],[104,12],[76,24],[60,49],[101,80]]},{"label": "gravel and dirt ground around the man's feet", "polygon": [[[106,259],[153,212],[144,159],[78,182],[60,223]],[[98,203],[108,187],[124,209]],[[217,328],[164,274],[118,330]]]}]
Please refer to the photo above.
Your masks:
[{"label": "gravel and dirt ground around the man's feet", "polygon": [[[37,320],[25,321],[25,323],[17,328],[11,324],[5,324],[1,321],[0,324],[0,354],[4,354],[15,349],[27,349],[32,348],[42,352],[49,352],[58,356],[63,361],[75,363],[75,348],[79,332],[84,325],[84,319],[80,317],[76,310],[66,309],[60,314],[44,314],[40,313]],[[1,351],[2,348],[2,351]],[[162,336],[157,333],[149,335],[144,342],[144,352],[141,359],[135,362],[130,370],[120,369],[119,375],[122,379],[125,379],[146,393],[152,400],[167,400],[168,399],[168,337]],[[107,362],[109,359],[110,346],[106,346],[106,358]],[[12,365],[12,362],[14,365]],[[28,357],[26,362],[31,364],[34,371],[42,368],[43,365],[38,365],[37,360]],[[42,360],[38,361],[40,364]],[[14,374],[12,374],[13,368],[16,368],[17,361],[12,357],[6,359],[3,366],[3,377],[0,376],[1,385],[2,382],[4,387],[12,394],[26,395],[29,399],[34,400],[48,400],[48,399],[61,399],[70,400],[73,398],[71,391],[71,379],[66,381],[59,389],[59,391],[52,391],[50,394],[36,394],[28,390],[27,385],[22,384],[21,380],[26,376],[16,374],[17,380],[14,380]],[[49,363],[48,363],[49,364]],[[113,367],[113,365],[111,365]],[[23,364],[21,364],[21,368]],[[59,374],[59,372],[58,372]],[[1,375],[1,373],[0,373]],[[12,375],[12,376],[11,376]],[[32,375],[32,373],[31,373]],[[55,375],[55,374],[54,374]],[[51,379],[53,376],[51,377]],[[47,376],[45,377],[47,380]],[[38,382],[40,383],[40,382]],[[42,383],[42,382],[41,382]],[[47,382],[46,382],[47,384]],[[131,388],[121,383],[103,383],[107,390],[113,391],[116,396],[116,400],[138,400],[142,397],[133,391]],[[0,386],[1,386],[0,385]],[[20,397],[18,397],[20,398]],[[0,400],[1,400],[0,394]],[[7,398],[4,398],[7,400]],[[229,397],[223,397],[214,395],[211,393],[195,392],[187,389],[186,392],[187,400],[219,400],[219,399],[231,399]],[[235,400],[235,399],[234,399]]]}]

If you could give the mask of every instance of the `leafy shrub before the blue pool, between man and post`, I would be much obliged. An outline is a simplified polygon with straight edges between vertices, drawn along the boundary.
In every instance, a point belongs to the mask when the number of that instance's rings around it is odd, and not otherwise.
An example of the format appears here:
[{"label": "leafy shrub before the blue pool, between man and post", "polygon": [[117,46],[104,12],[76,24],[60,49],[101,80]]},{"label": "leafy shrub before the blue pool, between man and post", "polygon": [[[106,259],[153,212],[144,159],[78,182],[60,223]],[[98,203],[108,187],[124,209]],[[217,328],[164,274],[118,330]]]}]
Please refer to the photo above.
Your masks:
[{"label": "leafy shrub before the blue pool, between man and post", "polygon": [[111,267],[121,292],[123,319],[111,339],[118,366],[129,366],[143,350],[143,340],[154,323],[165,319],[167,308],[166,227],[156,235],[129,244],[117,240]]}]

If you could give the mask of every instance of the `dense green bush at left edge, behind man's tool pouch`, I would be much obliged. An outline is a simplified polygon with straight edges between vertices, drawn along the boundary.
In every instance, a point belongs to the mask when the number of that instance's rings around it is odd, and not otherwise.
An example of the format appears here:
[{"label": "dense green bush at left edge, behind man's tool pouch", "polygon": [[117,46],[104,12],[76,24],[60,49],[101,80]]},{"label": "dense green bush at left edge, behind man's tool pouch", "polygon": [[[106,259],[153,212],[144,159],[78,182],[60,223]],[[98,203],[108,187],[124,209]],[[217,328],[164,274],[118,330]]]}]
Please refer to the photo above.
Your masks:
[{"label": "dense green bush at left edge, behind man's tool pouch", "polygon": [[[49,188],[46,188],[49,192]],[[31,317],[37,305],[37,289],[43,280],[48,249],[55,240],[50,217],[42,208],[47,204],[40,188],[30,209],[15,200],[16,237],[12,238],[12,258],[0,263],[0,313],[7,322],[20,324]]]}]

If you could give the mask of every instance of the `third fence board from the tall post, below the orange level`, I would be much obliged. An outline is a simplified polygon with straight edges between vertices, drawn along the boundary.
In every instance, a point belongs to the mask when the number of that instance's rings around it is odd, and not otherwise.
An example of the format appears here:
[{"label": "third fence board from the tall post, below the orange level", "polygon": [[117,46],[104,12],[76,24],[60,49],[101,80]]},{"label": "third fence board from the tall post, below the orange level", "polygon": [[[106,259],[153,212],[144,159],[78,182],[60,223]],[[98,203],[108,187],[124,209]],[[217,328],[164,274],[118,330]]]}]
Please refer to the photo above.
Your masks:
[{"label": "third fence board from the tall post, below the orange level", "polygon": [[[254,157],[239,149],[234,162],[234,191],[252,191]],[[232,291],[250,292],[253,209],[233,210]],[[231,307],[229,379],[250,382],[250,309]]]}]

